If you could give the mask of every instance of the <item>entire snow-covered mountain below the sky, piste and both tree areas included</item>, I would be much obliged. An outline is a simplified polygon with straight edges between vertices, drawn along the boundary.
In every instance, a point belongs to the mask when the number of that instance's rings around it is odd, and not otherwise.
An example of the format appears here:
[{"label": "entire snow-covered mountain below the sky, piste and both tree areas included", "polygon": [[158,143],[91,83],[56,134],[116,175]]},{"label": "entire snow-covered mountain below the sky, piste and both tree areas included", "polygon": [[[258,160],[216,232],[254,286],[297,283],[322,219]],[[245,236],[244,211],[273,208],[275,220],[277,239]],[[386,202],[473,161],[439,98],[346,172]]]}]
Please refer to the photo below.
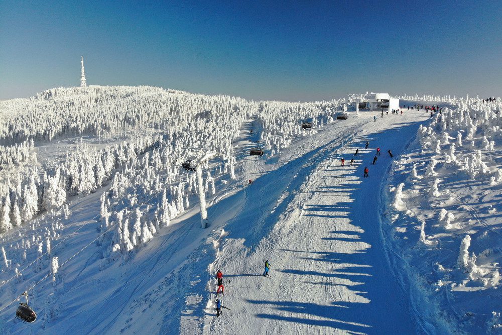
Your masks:
[{"label": "entire snow-covered mountain below the sky, piste and both tree areas included", "polygon": [[0,333],[502,332],[500,99],[363,96],[0,101]]}]

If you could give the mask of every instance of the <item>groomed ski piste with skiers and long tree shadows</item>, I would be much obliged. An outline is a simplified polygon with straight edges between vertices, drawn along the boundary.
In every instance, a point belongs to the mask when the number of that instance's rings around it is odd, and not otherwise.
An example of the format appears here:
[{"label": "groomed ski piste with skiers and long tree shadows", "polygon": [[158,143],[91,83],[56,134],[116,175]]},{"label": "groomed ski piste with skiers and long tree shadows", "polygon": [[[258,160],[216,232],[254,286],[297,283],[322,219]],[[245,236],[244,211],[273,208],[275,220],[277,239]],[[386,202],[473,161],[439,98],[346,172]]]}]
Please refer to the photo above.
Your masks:
[{"label": "groomed ski piste with skiers and long tree shadows", "polygon": [[[246,175],[260,177],[238,200],[242,210],[225,225],[211,265],[225,273],[223,305],[231,311],[215,318],[208,303],[204,333],[434,333],[391,267],[380,231],[386,151],[399,155],[425,119],[414,111],[335,122],[268,173],[260,171],[265,162],[247,158]],[[383,154],[371,165],[377,146]],[[341,167],[341,157],[354,166]],[[270,278],[261,275],[265,260]],[[214,280],[209,288],[214,300]]]}]

